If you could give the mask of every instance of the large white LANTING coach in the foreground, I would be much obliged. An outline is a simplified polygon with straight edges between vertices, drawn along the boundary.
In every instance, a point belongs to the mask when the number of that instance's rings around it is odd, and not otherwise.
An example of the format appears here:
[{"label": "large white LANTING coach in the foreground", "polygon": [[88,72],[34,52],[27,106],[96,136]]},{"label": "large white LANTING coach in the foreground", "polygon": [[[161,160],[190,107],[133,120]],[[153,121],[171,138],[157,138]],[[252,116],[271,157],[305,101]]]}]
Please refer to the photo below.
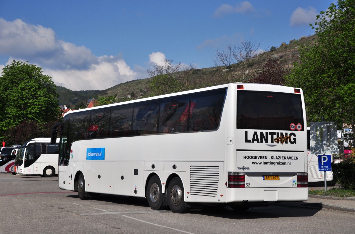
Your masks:
[{"label": "large white LANTING coach in the foreground", "polygon": [[67,113],[59,187],[183,213],[308,199],[302,90],[231,83]]}]

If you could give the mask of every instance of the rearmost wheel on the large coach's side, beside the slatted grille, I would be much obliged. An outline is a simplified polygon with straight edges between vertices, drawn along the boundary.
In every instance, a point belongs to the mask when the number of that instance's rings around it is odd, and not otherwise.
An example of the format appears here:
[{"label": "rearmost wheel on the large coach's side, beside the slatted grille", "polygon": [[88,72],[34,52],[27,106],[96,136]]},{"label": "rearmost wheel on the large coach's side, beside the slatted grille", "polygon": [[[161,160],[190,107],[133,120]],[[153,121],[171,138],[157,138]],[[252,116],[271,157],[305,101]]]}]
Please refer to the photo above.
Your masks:
[{"label": "rearmost wheel on the large coach's side, beside the slatted grille", "polygon": [[166,200],[172,212],[174,213],[186,213],[189,211],[190,206],[184,200],[184,186],[180,178],[173,178],[166,191]]}]

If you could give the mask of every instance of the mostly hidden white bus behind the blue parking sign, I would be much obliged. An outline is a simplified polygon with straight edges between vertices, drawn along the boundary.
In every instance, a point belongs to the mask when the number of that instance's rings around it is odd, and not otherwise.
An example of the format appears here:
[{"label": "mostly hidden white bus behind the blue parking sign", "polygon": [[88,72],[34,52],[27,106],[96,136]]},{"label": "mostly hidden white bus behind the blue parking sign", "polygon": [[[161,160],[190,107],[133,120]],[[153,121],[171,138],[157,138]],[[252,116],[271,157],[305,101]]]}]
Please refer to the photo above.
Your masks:
[{"label": "mostly hidden white bus behind the blue parking sign", "polygon": [[[332,157],[333,160],[333,157]],[[324,182],[324,172],[319,171],[318,155],[311,153],[310,128],[307,127],[308,182]],[[326,172],[327,181],[333,180],[333,172]]]}]

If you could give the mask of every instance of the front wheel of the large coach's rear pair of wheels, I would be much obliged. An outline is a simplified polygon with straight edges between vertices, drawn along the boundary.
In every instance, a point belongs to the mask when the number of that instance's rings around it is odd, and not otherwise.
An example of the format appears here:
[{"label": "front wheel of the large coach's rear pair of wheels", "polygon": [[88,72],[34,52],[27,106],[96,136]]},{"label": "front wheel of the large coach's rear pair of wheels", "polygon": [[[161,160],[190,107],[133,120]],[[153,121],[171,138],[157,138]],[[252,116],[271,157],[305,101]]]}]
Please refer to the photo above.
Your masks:
[{"label": "front wheel of the large coach's rear pair of wheels", "polygon": [[158,211],[167,209],[166,197],[163,194],[162,182],[159,176],[153,175],[148,181],[146,196],[149,206]]}]

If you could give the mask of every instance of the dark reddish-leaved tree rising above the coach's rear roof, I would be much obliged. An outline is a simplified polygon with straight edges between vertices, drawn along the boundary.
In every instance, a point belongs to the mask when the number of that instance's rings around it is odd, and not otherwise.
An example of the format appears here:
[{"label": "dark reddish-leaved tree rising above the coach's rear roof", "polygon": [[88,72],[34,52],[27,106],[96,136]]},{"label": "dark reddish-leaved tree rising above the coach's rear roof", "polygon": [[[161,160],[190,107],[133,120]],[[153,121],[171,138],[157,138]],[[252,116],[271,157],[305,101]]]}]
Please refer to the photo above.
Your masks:
[{"label": "dark reddish-leaved tree rising above the coach's rear roof", "polygon": [[269,85],[284,85],[284,76],[288,73],[288,71],[279,65],[278,59],[268,58],[263,64],[263,68],[264,69],[251,78],[249,82]]}]

